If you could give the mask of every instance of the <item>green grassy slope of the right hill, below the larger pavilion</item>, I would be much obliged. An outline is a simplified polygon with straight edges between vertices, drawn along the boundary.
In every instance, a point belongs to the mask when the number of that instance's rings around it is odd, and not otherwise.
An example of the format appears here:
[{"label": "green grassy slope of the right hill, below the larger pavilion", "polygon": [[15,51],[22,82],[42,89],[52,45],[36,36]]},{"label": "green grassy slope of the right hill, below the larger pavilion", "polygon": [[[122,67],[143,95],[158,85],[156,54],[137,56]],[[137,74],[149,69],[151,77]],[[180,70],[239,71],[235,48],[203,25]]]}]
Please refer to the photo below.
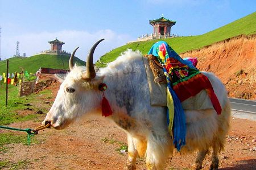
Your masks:
[{"label": "green grassy slope of the right hill, below the larger pavilion", "polygon": [[[232,38],[234,36],[238,36],[241,34],[251,35],[256,33],[256,12],[250,15],[247,15],[241,19],[238,19],[232,23],[226,24],[223,27],[217,28],[216,30],[207,32],[203,35],[197,36],[185,36],[185,37],[177,37],[171,39],[161,39],[166,41],[171,45],[172,48],[177,53],[183,53],[190,51],[192,49],[199,49],[206,45],[210,45],[212,43],[220,42],[221,40],[225,40],[228,38]],[[146,54],[151,46],[158,42],[158,40],[148,40],[146,42],[135,42],[131,44],[123,45],[122,47],[118,47],[113,49],[112,51],[106,53],[104,56],[100,58],[100,62],[97,62],[96,65],[98,67],[105,67],[106,64],[111,61],[114,61],[120,53],[125,51],[127,48],[130,49],[139,49],[142,54]]]}]

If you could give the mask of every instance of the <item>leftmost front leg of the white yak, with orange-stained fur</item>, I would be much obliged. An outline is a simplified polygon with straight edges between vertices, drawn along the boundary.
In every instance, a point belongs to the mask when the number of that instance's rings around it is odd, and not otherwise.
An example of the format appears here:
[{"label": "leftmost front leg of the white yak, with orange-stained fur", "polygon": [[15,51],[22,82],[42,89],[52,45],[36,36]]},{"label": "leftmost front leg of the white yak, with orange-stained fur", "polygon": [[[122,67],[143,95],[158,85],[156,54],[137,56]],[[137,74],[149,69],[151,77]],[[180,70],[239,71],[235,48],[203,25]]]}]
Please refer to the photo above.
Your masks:
[{"label": "leftmost front leg of the white yak, with orange-stained fur", "polygon": [[138,151],[135,149],[133,136],[127,134],[127,143],[128,143],[128,160],[124,169],[133,170],[136,169],[136,158],[138,155]]}]

